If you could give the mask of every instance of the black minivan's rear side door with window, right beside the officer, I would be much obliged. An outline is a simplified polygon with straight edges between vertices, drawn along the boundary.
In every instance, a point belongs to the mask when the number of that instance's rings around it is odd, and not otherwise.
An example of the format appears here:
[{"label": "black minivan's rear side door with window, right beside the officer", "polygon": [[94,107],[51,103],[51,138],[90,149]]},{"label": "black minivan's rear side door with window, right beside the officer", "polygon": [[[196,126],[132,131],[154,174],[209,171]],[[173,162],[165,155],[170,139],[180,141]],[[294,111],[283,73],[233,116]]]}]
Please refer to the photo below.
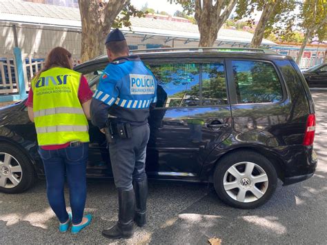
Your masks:
[{"label": "black minivan's rear side door with window, right beside the officer", "polygon": [[224,62],[194,60],[143,60],[158,81],[149,118],[149,177],[199,178],[210,151],[230,135]]}]

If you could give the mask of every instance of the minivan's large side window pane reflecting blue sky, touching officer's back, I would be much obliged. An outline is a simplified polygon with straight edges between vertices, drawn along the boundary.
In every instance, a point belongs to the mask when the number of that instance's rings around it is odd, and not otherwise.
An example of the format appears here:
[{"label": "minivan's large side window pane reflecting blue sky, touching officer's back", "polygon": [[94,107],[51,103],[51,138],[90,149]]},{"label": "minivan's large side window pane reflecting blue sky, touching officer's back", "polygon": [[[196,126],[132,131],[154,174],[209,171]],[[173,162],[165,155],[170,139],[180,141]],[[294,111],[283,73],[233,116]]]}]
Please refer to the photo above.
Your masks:
[{"label": "minivan's large side window pane reflecting blue sky, touching officer's back", "polygon": [[199,106],[199,64],[156,63],[148,68],[158,82],[157,107]]}]

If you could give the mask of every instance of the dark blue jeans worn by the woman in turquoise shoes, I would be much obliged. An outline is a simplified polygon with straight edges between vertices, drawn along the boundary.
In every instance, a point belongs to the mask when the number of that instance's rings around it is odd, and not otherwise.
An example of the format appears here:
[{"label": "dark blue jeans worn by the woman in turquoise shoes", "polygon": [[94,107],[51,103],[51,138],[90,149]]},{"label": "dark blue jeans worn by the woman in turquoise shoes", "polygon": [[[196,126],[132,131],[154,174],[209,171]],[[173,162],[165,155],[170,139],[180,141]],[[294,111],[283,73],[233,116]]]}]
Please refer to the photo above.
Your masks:
[{"label": "dark blue jeans worn by the woman in turquoise shoes", "polygon": [[50,207],[61,223],[68,220],[63,186],[65,173],[68,180],[72,224],[83,219],[86,202],[86,163],[88,161],[88,143],[68,146],[59,150],[39,148],[46,172],[47,195]]}]

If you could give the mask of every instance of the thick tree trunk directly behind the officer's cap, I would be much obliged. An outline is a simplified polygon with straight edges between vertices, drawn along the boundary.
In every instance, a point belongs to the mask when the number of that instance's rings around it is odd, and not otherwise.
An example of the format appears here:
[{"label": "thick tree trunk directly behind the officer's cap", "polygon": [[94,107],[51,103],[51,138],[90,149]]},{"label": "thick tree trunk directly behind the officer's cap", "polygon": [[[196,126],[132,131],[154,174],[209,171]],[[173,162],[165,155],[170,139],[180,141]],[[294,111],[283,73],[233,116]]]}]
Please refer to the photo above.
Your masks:
[{"label": "thick tree trunk directly behind the officer's cap", "polygon": [[82,62],[104,53],[106,35],[126,3],[128,0],[110,0],[108,3],[103,0],[79,0]]}]

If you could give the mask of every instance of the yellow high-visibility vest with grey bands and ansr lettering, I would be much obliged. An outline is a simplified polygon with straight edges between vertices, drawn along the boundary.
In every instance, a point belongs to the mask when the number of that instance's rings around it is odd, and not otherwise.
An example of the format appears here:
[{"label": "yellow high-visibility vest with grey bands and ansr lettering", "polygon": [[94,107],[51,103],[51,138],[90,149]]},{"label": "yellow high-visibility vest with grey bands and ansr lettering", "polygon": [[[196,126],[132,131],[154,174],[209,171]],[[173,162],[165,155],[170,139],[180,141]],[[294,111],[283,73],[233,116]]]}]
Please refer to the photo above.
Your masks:
[{"label": "yellow high-visibility vest with grey bands and ansr lettering", "polygon": [[81,73],[54,67],[32,79],[34,123],[39,146],[88,142],[88,120],[78,98]]}]

